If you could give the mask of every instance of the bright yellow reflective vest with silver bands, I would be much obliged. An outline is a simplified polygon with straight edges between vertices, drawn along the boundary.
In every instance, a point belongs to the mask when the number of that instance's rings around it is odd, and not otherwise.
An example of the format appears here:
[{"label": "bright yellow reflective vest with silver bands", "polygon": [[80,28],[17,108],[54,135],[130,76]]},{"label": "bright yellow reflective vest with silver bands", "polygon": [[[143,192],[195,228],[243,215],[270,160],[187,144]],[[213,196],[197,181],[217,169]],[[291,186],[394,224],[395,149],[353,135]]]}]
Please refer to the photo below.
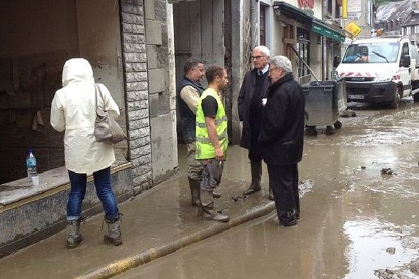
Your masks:
[{"label": "bright yellow reflective vest with silver bands", "polygon": [[218,135],[219,144],[224,153],[226,153],[228,146],[227,135],[227,116],[224,110],[223,103],[214,89],[206,89],[203,95],[198,100],[198,107],[196,108],[196,159],[210,159],[215,158],[215,149],[212,145],[210,137],[208,136],[207,125],[205,124],[205,116],[203,112],[202,102],[207,96],[215,98],[218,105],[218,110],[215,116],[216,134]]}]

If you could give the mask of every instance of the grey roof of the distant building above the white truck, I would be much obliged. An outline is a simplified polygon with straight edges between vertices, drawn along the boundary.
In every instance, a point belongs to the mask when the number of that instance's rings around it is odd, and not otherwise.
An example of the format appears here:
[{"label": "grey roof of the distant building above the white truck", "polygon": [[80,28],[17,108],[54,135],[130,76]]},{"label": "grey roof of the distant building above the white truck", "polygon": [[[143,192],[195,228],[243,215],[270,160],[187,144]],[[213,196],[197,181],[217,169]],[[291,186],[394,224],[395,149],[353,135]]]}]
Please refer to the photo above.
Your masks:
[{"label": "grey roof of the distant building above the white truck", "polygon": [[413,3],[417,0],[404,0],[397,2],[388,2],[378,7],[376,11],[376,22],[385,22],[388,20],[400,20],[404,22],[411,15]]}]

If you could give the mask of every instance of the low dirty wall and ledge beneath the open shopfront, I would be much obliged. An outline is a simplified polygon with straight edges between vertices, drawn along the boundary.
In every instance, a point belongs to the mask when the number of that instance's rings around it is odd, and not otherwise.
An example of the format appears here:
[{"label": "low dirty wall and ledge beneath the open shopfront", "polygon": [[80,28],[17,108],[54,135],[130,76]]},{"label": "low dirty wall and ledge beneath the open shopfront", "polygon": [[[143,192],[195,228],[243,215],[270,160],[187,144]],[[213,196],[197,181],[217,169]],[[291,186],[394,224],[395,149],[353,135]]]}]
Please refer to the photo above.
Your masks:
[{"label": "low dirty wall and ledge beneath the open shopfront", "polygon": [[[111,169],[112,186],[119,202],[133,197],[131,167],[131,163],[125,163]],[[55,172],[59,173],[57,170]],[[0,258],[64,229],[71,186],[68,176],[66,183],[61,176],[59,186],[49,190],[32,190],[26,197],[16,195],[15,202],[0,206],[0,224],[6,224],[0,226]],[[102,205],[96,197],[93,177],[89,176],[87,181],[82,214],[93,216],[102,211]]]}]

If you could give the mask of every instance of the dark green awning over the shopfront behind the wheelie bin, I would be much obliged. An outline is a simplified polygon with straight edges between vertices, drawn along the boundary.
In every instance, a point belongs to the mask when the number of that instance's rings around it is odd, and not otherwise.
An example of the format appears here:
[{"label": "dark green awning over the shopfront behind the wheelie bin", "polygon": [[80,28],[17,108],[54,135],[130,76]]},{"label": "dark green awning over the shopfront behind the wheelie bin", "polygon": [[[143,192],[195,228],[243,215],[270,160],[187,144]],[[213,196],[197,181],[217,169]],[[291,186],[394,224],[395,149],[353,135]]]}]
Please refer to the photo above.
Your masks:
[{"label": "dark green awning over the shopfront behind the wheelie bin", "polygon": [[284,1],[275,1],[274,8],[279,9],[281,14],[284,14],[287,17],[291,17],[304,24],[311,24],[311,31],[318,33],[321,36],[325,36],[339,43],[345,41],[345,36],[342,33],[341,28],[326,24],[313,15],[305,13],[304,10],[301,10]]}]

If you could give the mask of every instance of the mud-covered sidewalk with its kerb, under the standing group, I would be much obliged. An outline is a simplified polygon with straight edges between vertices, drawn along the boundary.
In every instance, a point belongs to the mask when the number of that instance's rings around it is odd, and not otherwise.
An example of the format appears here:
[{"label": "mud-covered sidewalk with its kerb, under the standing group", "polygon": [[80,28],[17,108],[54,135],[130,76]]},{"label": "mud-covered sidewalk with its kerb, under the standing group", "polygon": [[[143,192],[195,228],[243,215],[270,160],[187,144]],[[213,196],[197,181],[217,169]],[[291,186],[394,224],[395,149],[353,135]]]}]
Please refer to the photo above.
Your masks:
[{"label": "mud-covered sidewalk with its kerb, under the standing group", "polygon": [[[226,168],[219,188],[221,198],[216,199],[216,205],[231,217],[230,223],[198,218],[198,208],[191,206],[188,181],[182,174],[186,169],[186,147],[182,145],[179,146],[181,173],[177,177],[119,205],[124,214],[122,246],[103,243],[103,217],[95,216],[82,223],[84,241],[78,248],[66,249],[66,232],[61,232],[0,259],[0,278],[74,278],[90,276],[97,270],[94,274],[101,273],[103,266],[106,271],[118,272],[121,266],[133,264],[132,257],[136,263],[147,262],[272,211],[274,203],[267,199],[267,184],[262,193],[251,199],[233,200],[232,197],[242,195],[249,186],[250,165],[247,153],[238,146],[233,146],[229,152],[237,163],[232,161],[232,167]],[[114,264],[120,259],[122,262]]]}]

